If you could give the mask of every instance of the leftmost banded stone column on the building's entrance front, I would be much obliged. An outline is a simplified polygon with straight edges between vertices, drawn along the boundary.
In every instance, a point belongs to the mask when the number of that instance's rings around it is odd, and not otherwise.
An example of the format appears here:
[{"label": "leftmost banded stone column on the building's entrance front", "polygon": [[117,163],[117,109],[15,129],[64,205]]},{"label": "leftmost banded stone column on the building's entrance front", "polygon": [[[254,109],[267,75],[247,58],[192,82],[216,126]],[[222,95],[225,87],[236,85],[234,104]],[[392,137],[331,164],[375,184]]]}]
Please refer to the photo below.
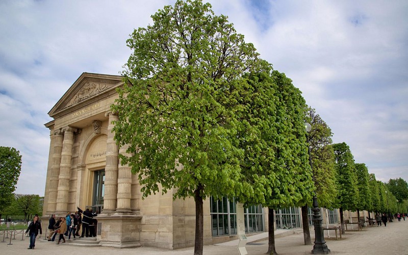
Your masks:
[{"label": "leftmost banded stone column on the building's entrance front", "polygon": [[54,140],[53,144],[53,165],[49,175],[49,189],[48,189],[48,206],[47,212],[55,213],[57,208],[57,192],[58,192],[58,176],[60,174],[61,152],[63,134],[61,130],[55,130],[51,137]]}]

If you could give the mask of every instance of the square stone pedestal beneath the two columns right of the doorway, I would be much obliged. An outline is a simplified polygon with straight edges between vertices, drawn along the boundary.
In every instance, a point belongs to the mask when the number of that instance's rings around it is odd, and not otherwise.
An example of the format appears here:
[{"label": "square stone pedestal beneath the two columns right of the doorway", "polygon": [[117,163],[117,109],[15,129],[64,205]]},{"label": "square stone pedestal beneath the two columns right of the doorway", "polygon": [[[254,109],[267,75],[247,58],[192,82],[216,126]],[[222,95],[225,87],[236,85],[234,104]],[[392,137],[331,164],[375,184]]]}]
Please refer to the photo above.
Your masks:
[{"label": "square stone pedestal beneath the two columns right of the doorway", "polygon": [[134,213],[101,213],[98,220],[97,239],[101,246],[116,248],[139,247],[141,215]]}]

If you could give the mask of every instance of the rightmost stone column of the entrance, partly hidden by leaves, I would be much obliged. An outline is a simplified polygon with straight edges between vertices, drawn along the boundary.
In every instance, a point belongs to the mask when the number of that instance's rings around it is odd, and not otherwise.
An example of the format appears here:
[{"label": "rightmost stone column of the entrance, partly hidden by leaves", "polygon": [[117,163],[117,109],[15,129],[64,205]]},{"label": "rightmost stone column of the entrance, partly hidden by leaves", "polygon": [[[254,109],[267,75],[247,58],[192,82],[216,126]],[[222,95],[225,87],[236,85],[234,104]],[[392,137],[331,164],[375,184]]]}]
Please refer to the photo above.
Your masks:
[{"label": "rightmost stone column of the entrance, partly hidden by leaves", "polygon": [[[126,152],[129,146],[120,148],[121,155],[130,157],[131,154]],[[116,212],[131,212],[131,188],[132,188],[132,172],[129,165],[122,165],[119,160],[118,167],[118,204]]]}]

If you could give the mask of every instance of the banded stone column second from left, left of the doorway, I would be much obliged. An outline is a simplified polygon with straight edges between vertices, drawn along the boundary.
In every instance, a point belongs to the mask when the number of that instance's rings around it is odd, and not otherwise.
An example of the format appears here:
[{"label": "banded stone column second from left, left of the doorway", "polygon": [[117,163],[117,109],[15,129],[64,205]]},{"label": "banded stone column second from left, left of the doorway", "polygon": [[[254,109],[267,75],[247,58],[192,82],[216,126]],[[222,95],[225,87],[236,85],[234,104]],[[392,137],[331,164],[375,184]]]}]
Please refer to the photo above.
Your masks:
[{"label": "banded stone column second from left, left of the doorway", "polygon": [[57,212],[59,214],[65,214],[68,210],[68,195],[69,195],[69,179],[71,171],[71,159],[72,159],[72,144],[73,144],[73,133],[77,131],[70,126],[64,127],[62,129],[64,132],[64,140],[62,142],[62,152],[61,152],[61,164],[60,164],[60,174],[58,182],[58,193],[57,193]]}]

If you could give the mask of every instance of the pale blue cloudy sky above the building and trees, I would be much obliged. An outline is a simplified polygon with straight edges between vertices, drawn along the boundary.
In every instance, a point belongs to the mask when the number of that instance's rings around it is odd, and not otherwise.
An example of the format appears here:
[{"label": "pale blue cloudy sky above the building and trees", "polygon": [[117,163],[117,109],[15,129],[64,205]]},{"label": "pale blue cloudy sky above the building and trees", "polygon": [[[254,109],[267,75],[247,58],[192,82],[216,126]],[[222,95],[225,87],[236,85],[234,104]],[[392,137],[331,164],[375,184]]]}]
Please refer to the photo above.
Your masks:
[{"label": "pale blue cloudy sky above the building and trees", "polygon": [[[210,0],[377,180],[408,181],[408,1]],[[126,39],[174,1],[0,1],[0,146],[16,193],[44,195],[47,113],[83,72],[118,75]]]}]

